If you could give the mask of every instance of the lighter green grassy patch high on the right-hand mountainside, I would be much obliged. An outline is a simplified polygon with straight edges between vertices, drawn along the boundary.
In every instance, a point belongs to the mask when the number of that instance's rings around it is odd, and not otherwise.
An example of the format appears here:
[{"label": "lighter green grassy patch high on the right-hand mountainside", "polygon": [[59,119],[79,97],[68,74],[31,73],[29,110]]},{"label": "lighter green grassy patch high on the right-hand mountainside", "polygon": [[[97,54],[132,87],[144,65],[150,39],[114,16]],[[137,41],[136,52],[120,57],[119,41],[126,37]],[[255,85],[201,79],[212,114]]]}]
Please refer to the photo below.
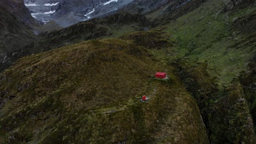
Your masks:
[{"label": "lighter green grassy patch high on the right-hand mountainside", "polygon": [[220,87],[229,85],[255,53],[256,7],[249,4],[225,12],[223,1],[207,1],[171,22],[166,31],[176,41],[172,55],[192,64],[207,62]]}]

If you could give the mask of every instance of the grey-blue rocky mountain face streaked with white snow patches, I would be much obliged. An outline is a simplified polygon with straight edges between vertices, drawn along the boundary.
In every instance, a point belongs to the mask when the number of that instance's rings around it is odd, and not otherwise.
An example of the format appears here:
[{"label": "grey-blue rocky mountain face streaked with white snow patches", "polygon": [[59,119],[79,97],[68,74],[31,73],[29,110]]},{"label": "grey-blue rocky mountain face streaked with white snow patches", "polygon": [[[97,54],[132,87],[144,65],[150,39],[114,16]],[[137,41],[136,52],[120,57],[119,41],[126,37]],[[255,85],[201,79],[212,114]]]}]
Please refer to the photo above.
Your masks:
[{"label": "grey-blue rocky mountain face streaked with white snow patches", "polygon": [[74,23],[106,16],[118,10],[133,0],[25,0],[31,15],[44,23],[55,21],[61,27],[68,27]]}]

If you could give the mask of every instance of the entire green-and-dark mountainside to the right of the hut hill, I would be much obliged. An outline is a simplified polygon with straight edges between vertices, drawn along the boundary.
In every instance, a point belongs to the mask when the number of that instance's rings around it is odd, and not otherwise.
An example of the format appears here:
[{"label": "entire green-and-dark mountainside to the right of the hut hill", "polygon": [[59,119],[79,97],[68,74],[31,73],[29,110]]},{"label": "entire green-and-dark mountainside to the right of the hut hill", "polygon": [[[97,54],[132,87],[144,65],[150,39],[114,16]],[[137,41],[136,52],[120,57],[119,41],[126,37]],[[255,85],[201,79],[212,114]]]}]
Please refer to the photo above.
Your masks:
[{"label": "entire green-and-dark mountainside to the right of the hut hill", "polygon": [[[156,11],[165,15],[154,31],[172,44],[155,54],[176,62],[211,143],[254,143],[255,73],[250,65],[255,63],[256,7],[254,1],[229,6],[219,0],[191,1],[175,10]],[[188,13],[177,17],[184,10]]]}]

